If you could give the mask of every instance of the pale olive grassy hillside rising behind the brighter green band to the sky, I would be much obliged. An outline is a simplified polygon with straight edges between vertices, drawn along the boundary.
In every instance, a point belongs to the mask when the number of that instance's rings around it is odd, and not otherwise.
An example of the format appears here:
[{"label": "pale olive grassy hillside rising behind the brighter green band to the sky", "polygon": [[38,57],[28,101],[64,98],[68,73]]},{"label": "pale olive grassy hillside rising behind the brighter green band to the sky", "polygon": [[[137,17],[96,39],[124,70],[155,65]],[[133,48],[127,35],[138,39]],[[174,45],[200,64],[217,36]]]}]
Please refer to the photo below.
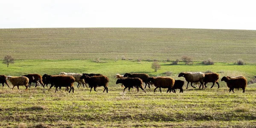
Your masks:
[{"label": "pale olive grassy hillside rising behind the brighter green band to the sky", "polygon": [[0,29],[0,57],[121,58],[256,63],[256,31],[177,28]]}]

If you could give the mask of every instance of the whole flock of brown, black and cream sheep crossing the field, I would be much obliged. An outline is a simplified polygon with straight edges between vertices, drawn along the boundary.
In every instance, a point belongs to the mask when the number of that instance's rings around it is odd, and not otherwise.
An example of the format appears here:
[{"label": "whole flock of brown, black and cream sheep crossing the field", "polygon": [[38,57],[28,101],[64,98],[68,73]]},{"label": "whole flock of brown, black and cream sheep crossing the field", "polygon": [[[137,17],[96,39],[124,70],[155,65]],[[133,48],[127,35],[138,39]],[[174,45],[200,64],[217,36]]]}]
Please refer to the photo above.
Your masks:
[{"label": "whole flock of brown, black and cream sheep crossing the field", "polygon": [[[185,80],[188,82],[187,87],[189,85],[189,82],[191,83],[191,86],[195,88],[192,83],[200,82],[199,88],[207,88],[206,84],[208,82],[212,82],[212,86],[215,85],[215,83],[218,85],[219,88],[219,75],[216,73],[208,73],[204,74],[202,72],[182,72],[178,75],[178,77],[184,77]],[[137,88],[137,91],[139,91],[139,88],[141,88],[144,92],[145,89],[143,88],[143,82],[145,82],[145,88],[148,85],[148,88],[150,88],[150,85],[156,87],[154,89],[154,92],[156,91],[157,88],[168,88],[168,92],[176,92],[175,89],[180,89],[180,92],[183,92],[183,85],[184,81],[182,80],[174,80],[171,77],[149,77],[148,74],[145,73],[140,73],[140,74],[129,74],[126,73],[125,75],[120,75],[116,74],[116,77],[118,80],[116,80],[116,84],[121,83],[122,86],[124,86],[124,91],[125,89],[128,88],[130,91],[131,88]],[[88,88],[87,84],[89,85],[90,92],[92,91],[92,88],[94,88],[94,91],[96,91],[97,87],[103,86],[104,91],[107,91],[108,93],[108,82],[109,79],[108,77],[102,75],[102,74],[76,74],[76,73],[65,73],[61,72],[59,75],[48,75],[44,74],[43,76],[39,74],[27,74],[23,75],[21,77],[12,77],[12,76],[5,76],[5,75],[0,75],[0,83],[4,86],[4,83],[6,85],[9,84],[7,82],[9,80],[13,88],[17,86],[19,89],[19,86],[25,86],[26,91],[28,90],[28,87],[30,88],[30,85],[32,82],[35,83],[35,87],[37,85],[41,84],[43,87],[46,85],[48,87],[48,84],[51,84],[49,87],[49,90],[55,86],[55,92],[58,91],[58,88],[61,89],[61,87],[65,87],[66,91],[70,88],[70,91],[72,90],[74,93],[74,82],[78,82],[77,88],[79,88],[81,85],[86,85]],[[221,81],[225,81],[227,83],[227,87],[230,88],[230,91],[234,92],[234,88],[242,88],[243,93],[245,91],[245,88],[247,86],[247,80],[244,76],[238,76],[238,77],[222,77]],[[80,85],[80,86],[79,86]],[[12,89],[13,89],[12,88]],[[69,93],[70,93],[69,91]]]}]

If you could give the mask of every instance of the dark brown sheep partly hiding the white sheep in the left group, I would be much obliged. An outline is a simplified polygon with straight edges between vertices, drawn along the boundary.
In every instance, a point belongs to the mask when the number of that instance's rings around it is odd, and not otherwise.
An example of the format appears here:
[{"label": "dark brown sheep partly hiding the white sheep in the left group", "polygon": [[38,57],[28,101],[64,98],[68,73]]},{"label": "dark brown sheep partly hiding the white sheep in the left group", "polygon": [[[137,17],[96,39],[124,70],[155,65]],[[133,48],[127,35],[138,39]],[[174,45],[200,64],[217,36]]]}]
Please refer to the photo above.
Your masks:
[{"label": "dark brown sheep partly hiding the white sheep in the left group", "polygon": [[[55,85],[55,92],[57,91],[57,88],[59,87],[66,87],[66,90],[68,89],[67,87],[70,87],[73,90],[74,93],[74,85],[73,83],[75,82],[75,78],[72,76],[66,76],[66,75],[46,75],[46,80],[51,83],[51,86],[48,91]],[[69,91],[69,93],[70,93]]]}]

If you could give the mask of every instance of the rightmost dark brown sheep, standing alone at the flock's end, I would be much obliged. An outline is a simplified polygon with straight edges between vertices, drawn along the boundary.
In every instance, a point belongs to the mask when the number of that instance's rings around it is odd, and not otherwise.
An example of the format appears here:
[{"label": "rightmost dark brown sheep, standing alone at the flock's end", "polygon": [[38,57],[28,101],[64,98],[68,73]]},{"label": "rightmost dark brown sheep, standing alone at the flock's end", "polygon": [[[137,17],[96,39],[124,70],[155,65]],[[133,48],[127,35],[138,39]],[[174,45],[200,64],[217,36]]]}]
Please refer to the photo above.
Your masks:
[{"label": "rightmost dark brown sheep, standing alone at the flock's end", "polygon": [[233,79],[230,79],[228,77],[222,77],[221,81],[225,81],[227,83],[227,87],[230,88],[230,91],[232,90],[233,92],[234,88],[242,88],[244,93],[247,86],[247,80],[245,77],[238,77]]}]

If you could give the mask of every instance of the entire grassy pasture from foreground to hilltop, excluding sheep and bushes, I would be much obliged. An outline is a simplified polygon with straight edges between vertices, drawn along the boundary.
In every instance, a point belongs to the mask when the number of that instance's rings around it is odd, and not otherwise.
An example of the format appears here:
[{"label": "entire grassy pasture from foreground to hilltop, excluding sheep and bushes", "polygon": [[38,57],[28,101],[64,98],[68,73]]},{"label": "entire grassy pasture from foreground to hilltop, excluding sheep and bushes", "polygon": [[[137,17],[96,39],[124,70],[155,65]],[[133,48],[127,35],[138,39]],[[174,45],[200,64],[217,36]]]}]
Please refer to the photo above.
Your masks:
[{"label": "entire grassy pasture from foreground to hilltop, excluding sheep and bushes", "polygon": [[[21,28],[0,29],[0,57],[12,55],[15,63],[0,63],[0,74],[100,73],[110,82],[90,92],[77,88],[67,93],[32,83],[25,91],[0,87],[0,127],[5,128],[100,128],[100,127],[226,127],[250,128],[256,124],[256,84],[245,93],[229,93],[225,82],[209,88],[186,88],[184,93],[146,88],[125,93],[115,75],[146,73],[169,76],[180,72],[212,71],[223,76],[256,75],[256,31],[177,28]],[[192,57],[193,65],[172,65],[181,56]],[[126,60],[121,60],[125,56]],[[214,65],[201,62],[212,58]],[[167,62],[167,59],[171,60]],[[243,59],[245,65],[234,62]],[[151,69],[153,60],[161,68]],[[181,60],[181,59],[180,59]],[[49,85],[48,85],[49,86]]]}]

